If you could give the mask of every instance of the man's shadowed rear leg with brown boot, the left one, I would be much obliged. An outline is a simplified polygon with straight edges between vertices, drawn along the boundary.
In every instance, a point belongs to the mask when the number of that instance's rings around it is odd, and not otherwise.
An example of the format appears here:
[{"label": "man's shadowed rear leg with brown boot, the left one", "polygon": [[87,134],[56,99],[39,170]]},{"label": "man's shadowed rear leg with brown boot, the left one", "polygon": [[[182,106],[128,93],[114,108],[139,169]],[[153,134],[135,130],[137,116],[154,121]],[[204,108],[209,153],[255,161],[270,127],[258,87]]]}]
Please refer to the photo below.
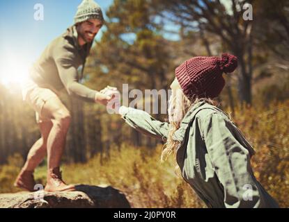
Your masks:
[{"label": "man's shadowed rear leg with brown boot, the left one", "polygon": [[33,178],[34,169],[36,169],[47,154],[47,137],[52,128],[52,121],[41,122],[38,125],[41,132],[41,138],[31,147],[24,167],[22,167],[22,170],[14,183],[15,187],[28,191],[34,191],[34,186],[36,185]]}]

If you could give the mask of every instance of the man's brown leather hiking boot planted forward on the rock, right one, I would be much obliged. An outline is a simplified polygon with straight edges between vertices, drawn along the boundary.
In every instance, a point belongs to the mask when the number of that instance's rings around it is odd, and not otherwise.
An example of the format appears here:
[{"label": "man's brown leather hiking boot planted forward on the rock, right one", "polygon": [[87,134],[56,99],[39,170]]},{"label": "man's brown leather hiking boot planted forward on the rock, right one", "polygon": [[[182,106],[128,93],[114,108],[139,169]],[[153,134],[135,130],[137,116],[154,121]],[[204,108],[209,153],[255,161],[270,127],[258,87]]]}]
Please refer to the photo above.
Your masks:
[{"label": "man's brown leather hiking boot planted forward on the rock, right one", "polygon": [[59,167],[54,169],[49,169],[47,173],[47,184],[45,186],[45,191],[55,192],[55,191],[75,191],[74,185],[67,185],[62,180],[61,171]]}]

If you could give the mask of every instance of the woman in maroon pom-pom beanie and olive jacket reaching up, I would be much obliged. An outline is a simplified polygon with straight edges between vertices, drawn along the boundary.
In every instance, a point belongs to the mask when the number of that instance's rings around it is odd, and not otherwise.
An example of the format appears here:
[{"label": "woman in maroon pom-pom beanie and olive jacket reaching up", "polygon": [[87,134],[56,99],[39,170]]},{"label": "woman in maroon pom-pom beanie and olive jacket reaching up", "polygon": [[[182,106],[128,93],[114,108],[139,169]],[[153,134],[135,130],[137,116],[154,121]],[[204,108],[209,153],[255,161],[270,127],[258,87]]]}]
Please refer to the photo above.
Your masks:
[{"label": "woman in maroon pom-pom beanie and olive jacket reaching up", "polygon": [[191,58],[175,69],[169,123],[124,106],[119,112],[136,130],[166,140],[162,160],[175,154],[182,177],[208,207],[278,207],[253,176],[252,146],[213,105],[225,85],[223,72],[236,67],[237,58],[223,54]]}]

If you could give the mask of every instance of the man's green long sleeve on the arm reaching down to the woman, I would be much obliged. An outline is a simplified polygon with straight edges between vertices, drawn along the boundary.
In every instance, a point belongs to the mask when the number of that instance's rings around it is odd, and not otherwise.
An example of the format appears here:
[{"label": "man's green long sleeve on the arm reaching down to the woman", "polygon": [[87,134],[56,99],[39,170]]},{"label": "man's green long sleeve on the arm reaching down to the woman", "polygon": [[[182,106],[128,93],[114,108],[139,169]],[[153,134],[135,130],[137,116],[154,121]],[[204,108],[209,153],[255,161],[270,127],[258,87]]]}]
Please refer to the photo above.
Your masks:
[{"label": "man's green long sleeve on the arm reaching down to the woman", "polygon": [[74,65],[74,54],[70,51],[58,53],[55,62],[59,77],[68,94],[84,101],[94,102],[96,91],[77,82],[78,71]]}]

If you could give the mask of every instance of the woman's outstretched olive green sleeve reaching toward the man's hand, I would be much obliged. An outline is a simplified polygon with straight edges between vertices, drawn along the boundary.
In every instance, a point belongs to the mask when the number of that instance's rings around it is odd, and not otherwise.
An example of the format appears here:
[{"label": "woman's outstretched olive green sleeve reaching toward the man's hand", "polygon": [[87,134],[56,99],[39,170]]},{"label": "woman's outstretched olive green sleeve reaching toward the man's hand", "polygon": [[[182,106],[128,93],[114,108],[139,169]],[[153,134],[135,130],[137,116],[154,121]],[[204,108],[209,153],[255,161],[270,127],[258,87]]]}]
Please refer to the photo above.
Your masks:
[{"label": "woman's outstretched olive green sleeve reaching toward the man's hand", "polygon": [[136,110],[134,108],[120,107],[120,114],[125,122],[132,128],[141,133],[166,140],[169,131],[169,123],[157,121],[143,110]]}]

